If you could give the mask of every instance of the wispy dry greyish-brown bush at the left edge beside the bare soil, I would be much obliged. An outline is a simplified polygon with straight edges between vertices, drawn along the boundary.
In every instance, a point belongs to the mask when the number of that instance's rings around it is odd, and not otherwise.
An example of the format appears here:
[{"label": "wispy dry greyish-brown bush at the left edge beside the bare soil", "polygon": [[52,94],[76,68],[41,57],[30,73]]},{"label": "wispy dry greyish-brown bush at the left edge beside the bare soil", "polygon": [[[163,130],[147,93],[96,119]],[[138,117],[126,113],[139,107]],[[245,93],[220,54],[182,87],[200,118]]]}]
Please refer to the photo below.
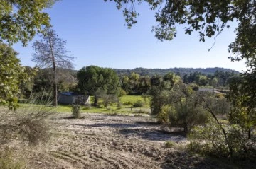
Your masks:
[{"label": "wispy dry greyish-brown bush at the left edge beside the bare soil", "polygon": [[17,136],[33,146],[45,143],[50,139],[50,115],[53,114],[43,107],[4,112],[0,122],[1,144],[17,139]]}]

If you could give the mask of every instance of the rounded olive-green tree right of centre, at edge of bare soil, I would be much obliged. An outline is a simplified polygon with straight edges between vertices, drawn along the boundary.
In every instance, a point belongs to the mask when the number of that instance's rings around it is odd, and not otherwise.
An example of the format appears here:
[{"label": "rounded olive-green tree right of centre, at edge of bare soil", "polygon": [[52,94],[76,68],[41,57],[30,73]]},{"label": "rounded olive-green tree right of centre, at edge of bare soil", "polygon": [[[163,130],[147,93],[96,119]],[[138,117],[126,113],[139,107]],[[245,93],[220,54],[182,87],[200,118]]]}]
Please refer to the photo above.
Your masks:
[{"label": "rounded olive-green tree right of centre, at edge of bare soil", "polygon": [[185,133],[196,125],[204,124],[208,115],[199,104],[194,86],[184,84],[175,74],[166,74],[165,77],[169,77],[166,88],[152,86],[149,91],[152,114],[169,127],[182,127]]}]

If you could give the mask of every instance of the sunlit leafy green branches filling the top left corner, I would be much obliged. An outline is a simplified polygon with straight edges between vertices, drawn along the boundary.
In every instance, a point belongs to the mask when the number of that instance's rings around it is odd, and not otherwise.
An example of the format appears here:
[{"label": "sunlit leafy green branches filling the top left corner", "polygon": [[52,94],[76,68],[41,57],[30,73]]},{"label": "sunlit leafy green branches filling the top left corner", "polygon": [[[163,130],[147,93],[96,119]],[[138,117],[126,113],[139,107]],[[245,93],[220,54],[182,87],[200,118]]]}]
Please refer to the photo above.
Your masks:
[{"label": "sunlit leafy green branches filling the top left corner", "polygon": [[29,40],[49,26],[50,17],[43,9],[58,0],[0,0],[0,42],[15,43],[21,40],[27,45]]}]

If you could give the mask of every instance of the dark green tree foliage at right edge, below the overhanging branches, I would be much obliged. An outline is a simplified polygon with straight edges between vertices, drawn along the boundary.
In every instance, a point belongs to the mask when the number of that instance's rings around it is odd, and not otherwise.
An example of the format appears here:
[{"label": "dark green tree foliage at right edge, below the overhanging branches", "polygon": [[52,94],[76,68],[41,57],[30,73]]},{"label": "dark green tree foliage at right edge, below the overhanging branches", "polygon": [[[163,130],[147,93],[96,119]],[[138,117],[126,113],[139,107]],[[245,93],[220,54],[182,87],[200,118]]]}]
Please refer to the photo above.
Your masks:
[{"label": "dark green tree foliage at right edge, below the overhanging branches", "polygon": [[239,124],[247,132],[247,139],[251,139],[252,128],[256,126],[256,88],[251,88],[251,86],[256,86],[255,75],[253,72],[253,74],[234,77],[229,83],[228,100],[233,107],[228,117],[231,124]]}]

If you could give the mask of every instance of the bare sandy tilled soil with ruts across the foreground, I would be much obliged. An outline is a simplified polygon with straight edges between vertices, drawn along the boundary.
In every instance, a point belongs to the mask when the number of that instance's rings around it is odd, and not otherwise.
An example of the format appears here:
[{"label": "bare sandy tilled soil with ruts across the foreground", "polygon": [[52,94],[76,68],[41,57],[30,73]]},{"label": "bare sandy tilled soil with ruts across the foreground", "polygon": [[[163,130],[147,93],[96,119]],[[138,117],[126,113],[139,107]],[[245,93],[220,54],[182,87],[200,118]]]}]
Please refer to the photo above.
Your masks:
[{"label": "bare sandy tilled soil with ruts across the foreground", "polygon": [[218,168],[165,141],[186,144],[181,134],[163,132],[151,117],[87,114],[83,119],[58,115],[55,134],[43,151],[28,157],[30,168]]}]

